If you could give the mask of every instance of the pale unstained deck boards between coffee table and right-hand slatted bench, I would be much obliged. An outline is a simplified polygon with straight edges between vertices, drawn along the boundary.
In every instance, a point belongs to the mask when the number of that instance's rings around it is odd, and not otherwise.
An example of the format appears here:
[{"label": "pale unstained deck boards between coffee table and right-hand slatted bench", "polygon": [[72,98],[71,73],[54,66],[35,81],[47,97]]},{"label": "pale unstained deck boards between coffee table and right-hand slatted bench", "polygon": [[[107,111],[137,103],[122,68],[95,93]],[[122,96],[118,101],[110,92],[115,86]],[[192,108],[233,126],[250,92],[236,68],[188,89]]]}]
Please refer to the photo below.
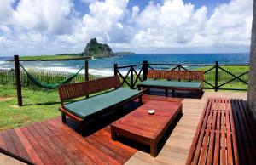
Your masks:
[{"label": "pale unstained deck boards between coffee table and right-hand slatted bench", "polygon": [[[185,164],[195,130],[208,97],[226,97],[247,100],[247,93],[206,92],[199,99],[183,99],[183,117],[177,122],[172,134],[157,157],[137,151],[125,164]],[[172,100],[170,98],[169,100]]]}]

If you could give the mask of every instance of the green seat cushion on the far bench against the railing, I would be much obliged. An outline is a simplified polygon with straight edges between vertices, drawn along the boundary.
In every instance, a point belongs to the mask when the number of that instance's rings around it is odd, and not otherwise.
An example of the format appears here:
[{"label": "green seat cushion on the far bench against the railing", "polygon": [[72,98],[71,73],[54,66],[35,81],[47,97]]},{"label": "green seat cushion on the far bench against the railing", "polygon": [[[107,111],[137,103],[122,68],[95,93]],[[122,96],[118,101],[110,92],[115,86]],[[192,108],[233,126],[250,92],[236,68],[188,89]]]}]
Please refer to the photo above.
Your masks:
[{"label": "green seat cushion on the far bench against the railing", "polygon": [[200,88],[201,82],[177,82],[177,81],[161,81],[161,80],[146,80],[139,85],[169,87],[169,88]]}]

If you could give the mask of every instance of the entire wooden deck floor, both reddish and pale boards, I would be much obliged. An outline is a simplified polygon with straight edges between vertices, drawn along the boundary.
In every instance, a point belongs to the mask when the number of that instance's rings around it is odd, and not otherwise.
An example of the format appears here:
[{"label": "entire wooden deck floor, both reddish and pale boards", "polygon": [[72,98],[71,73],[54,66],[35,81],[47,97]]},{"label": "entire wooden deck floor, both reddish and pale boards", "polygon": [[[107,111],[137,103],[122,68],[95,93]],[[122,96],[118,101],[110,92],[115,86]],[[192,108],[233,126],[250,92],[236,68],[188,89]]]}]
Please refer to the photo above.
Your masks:
[{"label": "entire wooden deck floor, both reddish and pale boards", "polygon": [[[147,100],[183,102],[183,117],[177,122],[157,157],[111,139],[109,127],[82,137],[75,123],[61,118],[15,128],[0,134],[0,147],[36,164],[185,164],[207,97],[241,98],[246,93],[207,92],[201,99],[148,96]],[[1,157],[0,157],[1,158]],[[1,161],[1,159],[0,159]],[[15,163],[14,163],[15,164]],[[19,164],[19,162],[17,162]]]}]

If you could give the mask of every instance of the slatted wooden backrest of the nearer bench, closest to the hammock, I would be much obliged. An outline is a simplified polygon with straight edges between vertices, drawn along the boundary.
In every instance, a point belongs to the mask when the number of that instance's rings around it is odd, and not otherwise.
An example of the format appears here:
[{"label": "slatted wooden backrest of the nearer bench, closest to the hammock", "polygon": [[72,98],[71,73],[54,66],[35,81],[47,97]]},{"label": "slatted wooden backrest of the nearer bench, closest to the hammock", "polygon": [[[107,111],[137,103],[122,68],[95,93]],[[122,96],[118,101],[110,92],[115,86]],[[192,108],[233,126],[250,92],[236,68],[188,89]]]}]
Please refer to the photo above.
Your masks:
[{"label": "slatted wooden backrest of the nearer bench, closest to the hammock", "polygon": [[111,88],[119,88],[122,84],[119,76],[104,77],[81,83],[69,83],[58,88],[61,103],[89,94],[95,94]]}]

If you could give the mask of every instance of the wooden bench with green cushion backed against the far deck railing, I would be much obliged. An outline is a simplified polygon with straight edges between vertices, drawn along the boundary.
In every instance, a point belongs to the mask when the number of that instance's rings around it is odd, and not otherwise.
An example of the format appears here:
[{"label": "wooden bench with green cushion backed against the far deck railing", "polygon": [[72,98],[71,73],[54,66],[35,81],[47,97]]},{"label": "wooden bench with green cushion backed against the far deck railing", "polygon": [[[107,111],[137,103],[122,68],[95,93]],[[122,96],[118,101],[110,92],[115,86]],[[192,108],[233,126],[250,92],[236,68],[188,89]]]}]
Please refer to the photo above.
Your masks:
[{"label": "wooden bench with green cushion backed against the far deck railing", "polygon": [[[162,81],[157,79],[166,79],[169,81]],[[203,71],[150,70],[148,71],[147,80],[139,83],[137,87],[139,89],[165,89],[166,96],[168,96],[168,89],[172,89],[172,97],[175,96],[175,90],[191,91],[196,92],[197,96],[200,98],[203,88],[203,79]],[[180,80],[186,80],[186,82],[181,82]]]}]

